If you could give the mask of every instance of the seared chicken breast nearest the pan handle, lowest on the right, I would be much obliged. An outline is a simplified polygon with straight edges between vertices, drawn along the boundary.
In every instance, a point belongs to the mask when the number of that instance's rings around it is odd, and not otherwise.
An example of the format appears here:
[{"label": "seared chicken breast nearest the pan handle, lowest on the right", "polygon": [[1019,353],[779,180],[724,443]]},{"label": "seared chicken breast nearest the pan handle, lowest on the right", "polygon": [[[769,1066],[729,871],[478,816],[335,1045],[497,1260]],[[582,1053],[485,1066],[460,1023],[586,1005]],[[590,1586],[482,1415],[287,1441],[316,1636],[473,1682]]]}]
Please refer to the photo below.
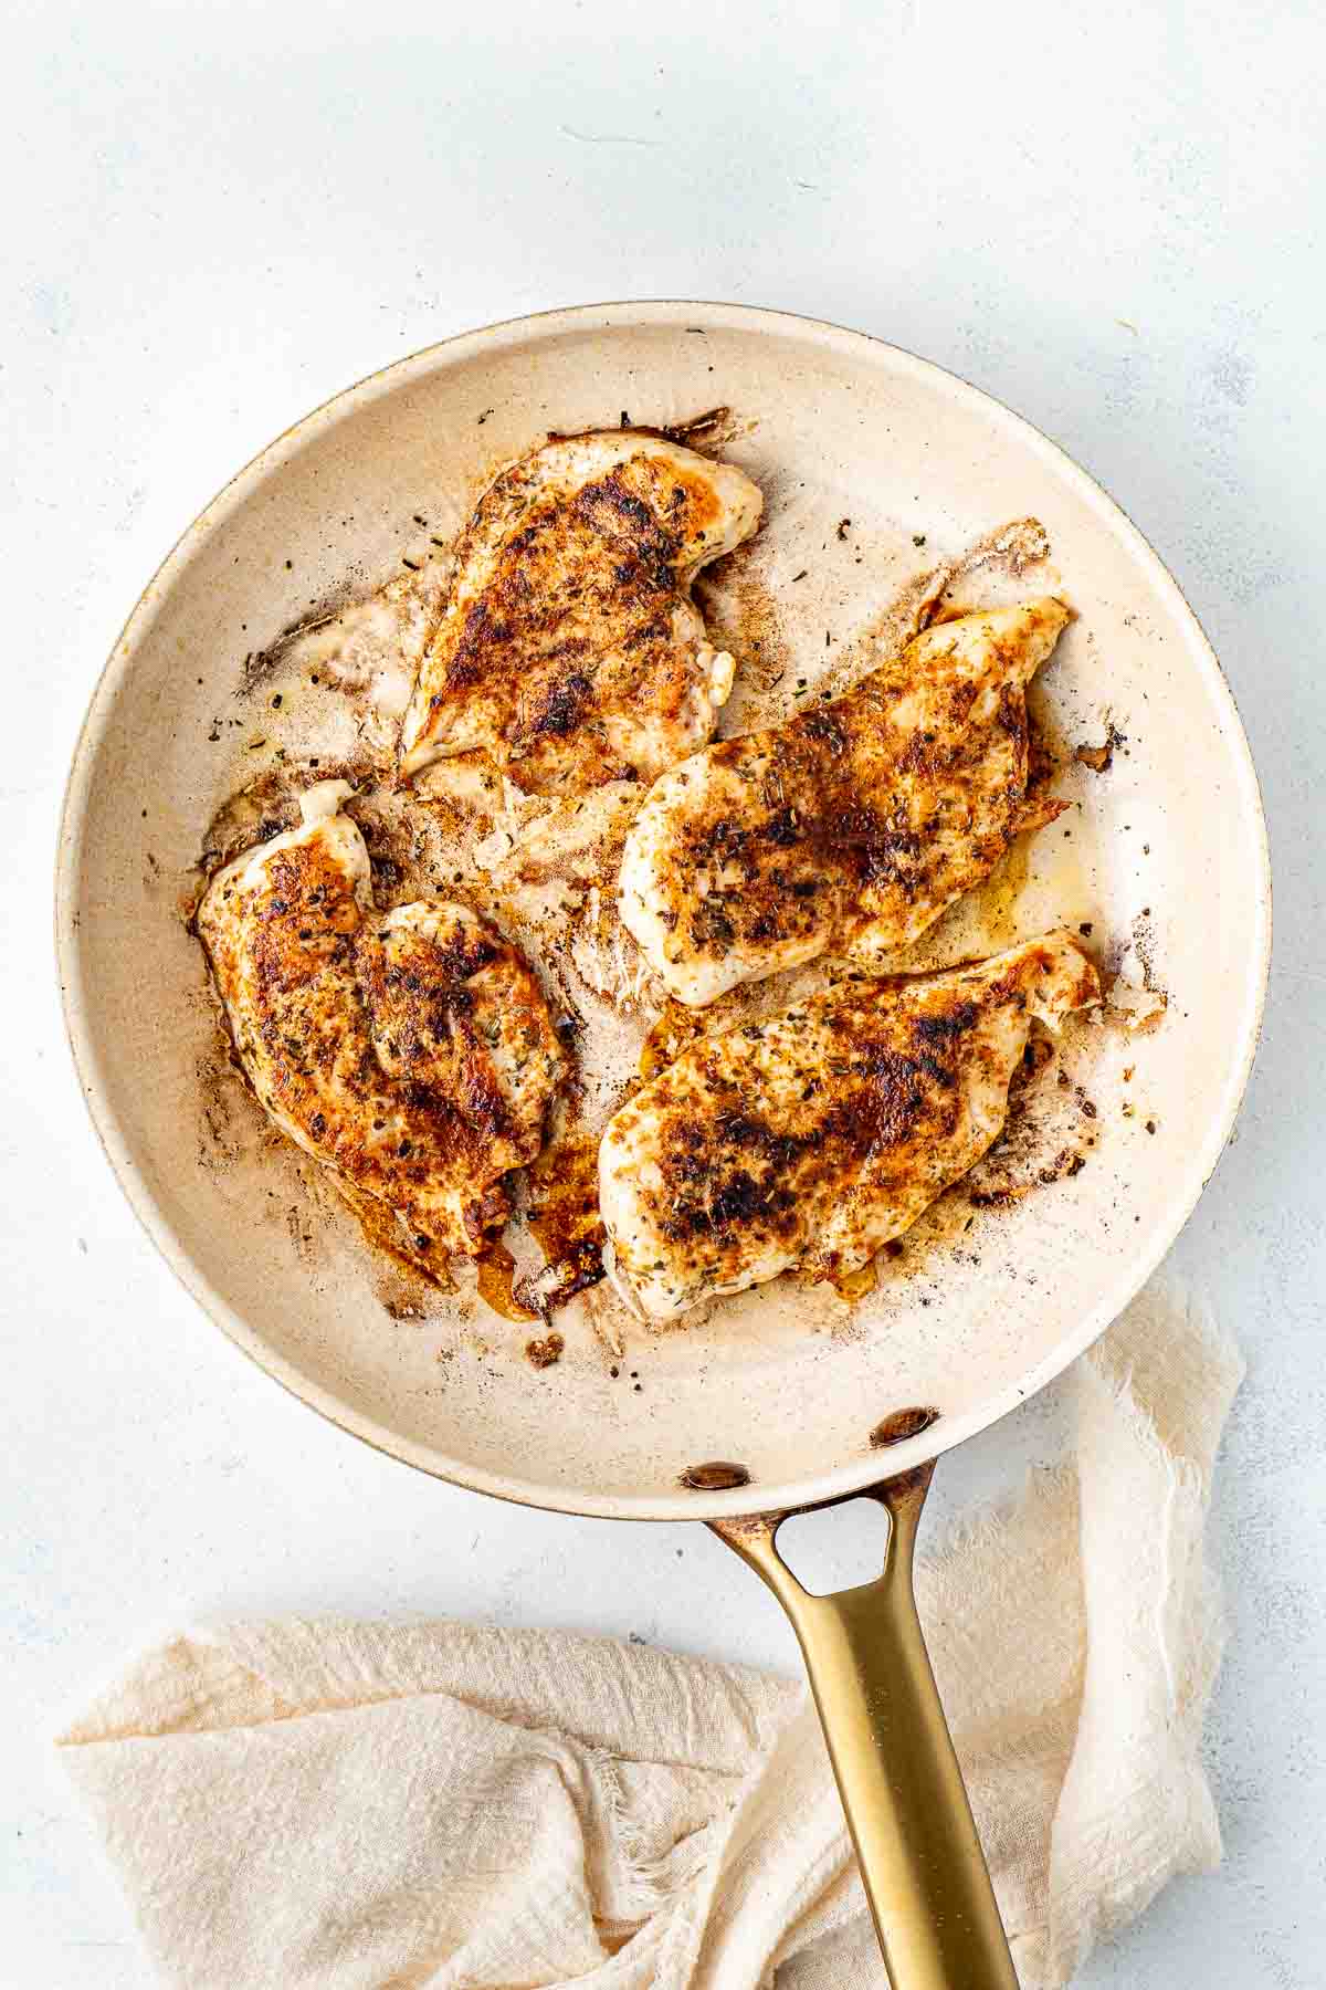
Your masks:
[{"label": "seared chicken breast nearest the pan handle, lowest on the right", "polygon": [[1032,1019],[1099,1001],[1068,933],[704,1037],[608,1120],[612,1276],[652,1319],[799,1266],[843,1278],[980,1160]]}]

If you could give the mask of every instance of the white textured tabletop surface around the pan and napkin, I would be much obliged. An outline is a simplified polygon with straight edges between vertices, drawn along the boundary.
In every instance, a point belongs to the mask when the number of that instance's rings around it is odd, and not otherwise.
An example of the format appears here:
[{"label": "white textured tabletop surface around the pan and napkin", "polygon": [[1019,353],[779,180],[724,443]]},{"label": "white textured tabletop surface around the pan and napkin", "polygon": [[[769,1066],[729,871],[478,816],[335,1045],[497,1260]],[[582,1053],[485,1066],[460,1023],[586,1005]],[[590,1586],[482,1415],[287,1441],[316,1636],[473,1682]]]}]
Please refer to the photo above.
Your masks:
[{"label": "white textured tabletop surface around the pan and napkin", "polygon": [[[372,1455],[175,1290],[83,1120],[56,808],[101,661],[241,462],[447,332],[606,297],[781,304],[1046,428],[1193,599],[1262,774],[1276,967],[1175,1258],[1252,1373],[1217,1502],[1229,1859],[1091,1990],[1326,1984],[1322,492],[1316,8],[1115,0],[0,8],[6,1359],[0,1984],[147,1970],[48,1735],[181,1614],[485,1614],[793,1666],[702,1528],[501,1508]],[[147,1079],[149,1083],[149,1079]],[[962,1506],[1046,1405],[942,1475]]]}]

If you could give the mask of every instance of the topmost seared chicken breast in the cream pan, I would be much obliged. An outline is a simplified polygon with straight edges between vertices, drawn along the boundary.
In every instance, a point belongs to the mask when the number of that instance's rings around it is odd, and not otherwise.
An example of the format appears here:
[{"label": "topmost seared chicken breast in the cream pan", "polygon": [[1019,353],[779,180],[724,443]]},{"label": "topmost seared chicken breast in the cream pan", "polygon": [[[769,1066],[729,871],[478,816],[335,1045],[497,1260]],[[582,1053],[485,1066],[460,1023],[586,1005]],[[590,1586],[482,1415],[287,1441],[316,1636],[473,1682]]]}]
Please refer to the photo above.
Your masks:
[{"label": "topmost seared chicken breast in the cream pan", "polygon": [[402,732],[402,774],[479,750],[531,794],[650,782],[704,746],[734,661],[690,583],[763,498],[642,430],[563,436],[503,470],[461,535]]}]

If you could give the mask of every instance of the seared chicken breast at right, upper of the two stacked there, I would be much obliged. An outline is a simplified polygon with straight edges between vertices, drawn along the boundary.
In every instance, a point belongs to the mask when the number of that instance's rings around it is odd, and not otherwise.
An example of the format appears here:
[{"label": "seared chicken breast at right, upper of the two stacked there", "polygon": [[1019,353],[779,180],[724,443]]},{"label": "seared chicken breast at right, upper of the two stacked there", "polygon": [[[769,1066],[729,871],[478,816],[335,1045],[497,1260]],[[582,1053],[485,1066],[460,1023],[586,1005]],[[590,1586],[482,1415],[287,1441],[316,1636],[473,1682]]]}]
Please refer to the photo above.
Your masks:
[{"label": "seared chicken breast at right, upper of the two stacked there", "polygon": [[847,696],[664,774],[618,903],[670,993],[702,1007],[827,947],[903,947],[1054,822],[1068,804],[1026,792],[1026,687],[1066,623],[1052,597],[940,623]]}]

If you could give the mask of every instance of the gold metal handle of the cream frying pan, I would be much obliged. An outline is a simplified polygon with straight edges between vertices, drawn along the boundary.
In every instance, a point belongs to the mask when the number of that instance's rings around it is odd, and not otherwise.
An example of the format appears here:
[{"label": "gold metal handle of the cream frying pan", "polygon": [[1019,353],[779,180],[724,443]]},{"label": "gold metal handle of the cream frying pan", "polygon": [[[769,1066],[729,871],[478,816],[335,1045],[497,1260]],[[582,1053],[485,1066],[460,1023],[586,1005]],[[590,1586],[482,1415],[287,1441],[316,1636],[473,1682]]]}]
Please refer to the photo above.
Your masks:
[{"label": "gold metal handle of the cream frying pan", "polygon": [[851,1494],[887,1508],[889,1548],[875,1582],[837,1596],[803,1590],[775,1546],[783,1520],[813,1508],[710,1526],[791,1618],[893,1990],[1018,1990],[912,1594],[932,1471]]}]

